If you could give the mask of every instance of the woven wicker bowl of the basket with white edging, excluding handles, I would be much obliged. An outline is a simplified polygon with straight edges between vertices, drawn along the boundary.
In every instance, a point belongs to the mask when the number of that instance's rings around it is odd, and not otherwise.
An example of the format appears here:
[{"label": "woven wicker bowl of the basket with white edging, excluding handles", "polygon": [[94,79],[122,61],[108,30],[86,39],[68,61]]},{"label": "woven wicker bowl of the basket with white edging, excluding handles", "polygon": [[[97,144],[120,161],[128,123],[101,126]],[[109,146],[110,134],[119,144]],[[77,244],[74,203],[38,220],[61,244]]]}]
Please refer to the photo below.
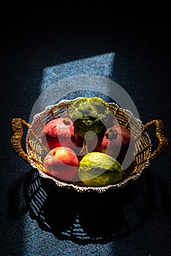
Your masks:
[{"label": "woven wicker bowl of the basket with white edging, excluding handles", "polygon": [[[75,99],[76,100],[76,99]],[[45,108],[42,113],[38,113],[34,116],[34,120],[31,126],[28,128],[28,133],[26,137],[26,149],[28,152],[29,162],[32,167],[36,167],[39,173],[44,178],[51,178],[47,176],[43,162],[45,156],[48,153],[48,149],[42,145],[41,133],[42,129],[45,127],[47,122],[53,120],[54,118],[68,117],[74,111],[72,108],[75,100],[64,100],[58,105],[52,105]],[[132,178],[137,178],[142,170],[149,165],[149,159],[151,156],[151,140],[148,133],[142,125],[142,122],[137,118],[134,118],[129,110],[123,110],[114,103],[108,103],[108,106],[113,111],[118,124],[126,129],[131,130],[132,138],[134,139],[134,160],[132,164],[123,171],[123,179],[118,184],[108,185],[106,187],[86,187],[80,181],[70,181],[64,182],[53,178],[54,182],[59,187],[74,188],[78,191],[90,191],[98,190],[98,192],[103,192],[108,188],[122,187],[126,181]]]}]

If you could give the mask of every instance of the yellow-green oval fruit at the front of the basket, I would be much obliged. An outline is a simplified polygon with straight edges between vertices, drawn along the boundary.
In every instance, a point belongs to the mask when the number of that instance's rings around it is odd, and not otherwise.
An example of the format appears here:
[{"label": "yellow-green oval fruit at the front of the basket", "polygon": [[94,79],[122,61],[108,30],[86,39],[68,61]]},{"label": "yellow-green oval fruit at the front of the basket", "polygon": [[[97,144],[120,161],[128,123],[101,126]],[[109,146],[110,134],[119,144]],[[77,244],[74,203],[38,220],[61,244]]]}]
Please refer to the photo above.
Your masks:
[{"label": "yellow-green oval fruit at the front of the basket", "polygon": [[91,152],[81,159],[78,176],[88,186],[103,187],[121,181],[122,167],[107,154]]}]

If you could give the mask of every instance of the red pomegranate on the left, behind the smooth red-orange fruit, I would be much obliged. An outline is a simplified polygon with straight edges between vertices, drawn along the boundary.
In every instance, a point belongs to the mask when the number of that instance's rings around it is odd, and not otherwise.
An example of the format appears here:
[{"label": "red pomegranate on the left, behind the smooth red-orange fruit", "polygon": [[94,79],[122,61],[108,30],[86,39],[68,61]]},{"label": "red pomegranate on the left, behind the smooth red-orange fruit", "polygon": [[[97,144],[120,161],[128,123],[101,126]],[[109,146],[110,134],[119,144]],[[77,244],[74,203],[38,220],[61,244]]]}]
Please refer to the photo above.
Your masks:
[{"label": "red pomegranate on the left, behind the smooth red-orange fruit", "polygon": [[42,130],[42,143],[51,149],[58,146],[75,148],[83,146],[83,138],[75,134],[70,118],[56,118],[45,124]]}]

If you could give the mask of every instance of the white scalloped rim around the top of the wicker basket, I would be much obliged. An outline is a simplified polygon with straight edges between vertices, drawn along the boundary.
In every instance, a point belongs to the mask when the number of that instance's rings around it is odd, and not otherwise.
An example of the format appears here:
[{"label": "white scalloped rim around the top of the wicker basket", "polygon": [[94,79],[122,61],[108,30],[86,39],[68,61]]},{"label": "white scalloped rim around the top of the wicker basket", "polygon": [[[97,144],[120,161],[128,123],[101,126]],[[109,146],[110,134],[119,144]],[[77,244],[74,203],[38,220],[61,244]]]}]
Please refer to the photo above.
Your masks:
[{"label": "white scalloped rim around the top of the wicker basket", "polygon": [[77,99],[81,99],[81,98],[85,98],[85,97],[77,97],[75,99],[61,99],[60,102],[56,103],[55,105],[48,105],[47,107],[45,107],[45,109],[40,112],[40,113],[37,113],[34,115],[34,118],[33,120],[31,121],[31,124],[29,125],[28,127],[28,132],[26,134],[26,151],[27,151],[27,154],[28,154],[28,157],[30,159],[29,163],[31,165],[31,167],[34,167],[36,168],[38,171],[39,171],[39,176],[41,176],[42,178],[45,178],[47,180],[51,180],[53,181],[58,187],[64,187],[66,189],[74,189],[76,190],[77,192],[99,192],[99,193],[102,193],[102,192],[106,192],[108,189],[118,189],[118,188],[121,188],[121,187],[125,187],[125,185],[129,182],[129,181],[135,181],[137,180],[137,178],[139,178],[142,174],[142,171],[149,167],[150,166],[150,157],[151,157],[151,139],[148,135],[148,132],[144,131],[144,125],[142,124],[142,121],[139,119],[139,118],[135,118],[132,111],[128,110],[128,109],[123,109],[121,108],[117,103],[115,102],[106,102],[107,105],[115,105],[116,108],[120,109],[120,110],[123,110],[124,113],[128,113],[134,120],[137,121],[138,124],[140,124],[140,126],[142,127],[142,131],[145,133],[145,136],[148,138],[148,142],[149,142],[149,154],[148,154],[148,157],[147,159],[145,160],[145,163],[143,164],[141,170],[139,170],[138,173],[134,173],[134,175],[132,176],[129,176],[129,178],[126,178],[126,180],[123,180],[121,182],[119,182],[118,184],[109,184],[107,186],[104,186],[104,187],[90,187],[90,186],[87,186],[87,187],[82,187],[82,186],[78,186],[76,184],[69,184],[69,183],[66,183],[64,181],[59,181],[58,179],[56,178],[53,178],[51,176],[48,176],[47,173],[43,172],[42,170],[39,169],[39,167],[37,167],[37,165],[35,165],[34,163],[34,160],[31,159],[31,154],[30,154],[30,151],[28,149],[28,138],[29,138],[29,135],[30,135],[30,132],[31,132],[31,128],[33,127],[35,121],[37,121],[37,118],[39,118],[40,116],[42,116],[42,114],[46,113],[47,111],[51,110],[52,108],[57,108],[59,105],[62,105],[62,104],[65,104],[67,102],[75,102],[75,100]]}]

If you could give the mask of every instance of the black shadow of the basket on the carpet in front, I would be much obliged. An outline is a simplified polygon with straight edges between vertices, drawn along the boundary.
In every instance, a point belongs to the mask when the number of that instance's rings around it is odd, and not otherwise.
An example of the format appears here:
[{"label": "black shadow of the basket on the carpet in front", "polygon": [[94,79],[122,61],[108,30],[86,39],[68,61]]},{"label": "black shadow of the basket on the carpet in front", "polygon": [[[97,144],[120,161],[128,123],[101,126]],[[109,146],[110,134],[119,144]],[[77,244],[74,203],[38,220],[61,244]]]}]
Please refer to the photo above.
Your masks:
[{"label": "black shadow of the basket on the carpet in front", "polygon": [[102,194],[78,193],[57,187],[32,168],[25,181],[26,203],[31,218],[42,230],[77,243],[110,241],[127,230],[124,208],[133,200],[136,183]]}]

